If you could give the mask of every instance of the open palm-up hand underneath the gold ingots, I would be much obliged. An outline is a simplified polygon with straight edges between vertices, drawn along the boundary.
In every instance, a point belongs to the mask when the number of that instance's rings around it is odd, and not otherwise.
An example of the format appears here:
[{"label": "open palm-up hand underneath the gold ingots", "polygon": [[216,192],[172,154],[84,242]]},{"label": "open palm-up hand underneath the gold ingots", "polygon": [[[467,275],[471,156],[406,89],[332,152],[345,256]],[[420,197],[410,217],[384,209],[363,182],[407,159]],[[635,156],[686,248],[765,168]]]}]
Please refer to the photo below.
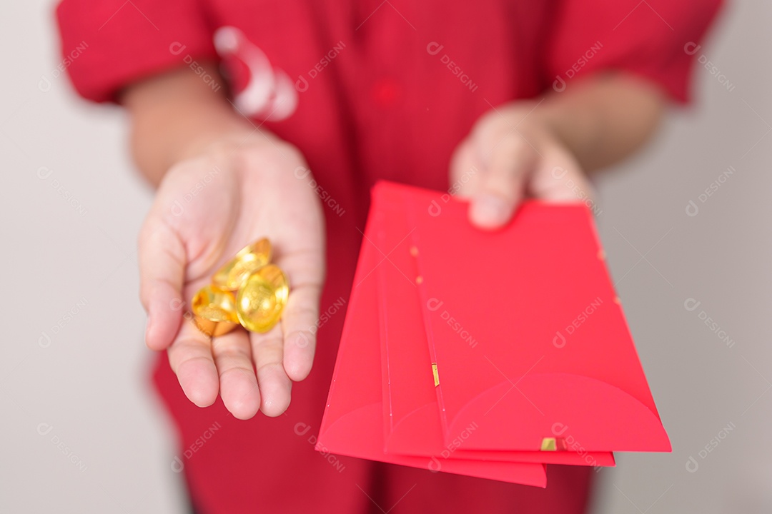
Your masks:
[{"label": "open palm-up hand underneath the gold ingots", "polygon": [[[272,136],[222,143],[168,171],[139,240],[146,340],[168,349],[185,395],[217,395],[236,418],[289,406],[292,381],[313,362],[324,277],[320,201],[303,156]],[[208,338],[185,319],[191,297],[236,252],[261,237],[289,281],[282,322],[266,334],[238,329]]]}]

